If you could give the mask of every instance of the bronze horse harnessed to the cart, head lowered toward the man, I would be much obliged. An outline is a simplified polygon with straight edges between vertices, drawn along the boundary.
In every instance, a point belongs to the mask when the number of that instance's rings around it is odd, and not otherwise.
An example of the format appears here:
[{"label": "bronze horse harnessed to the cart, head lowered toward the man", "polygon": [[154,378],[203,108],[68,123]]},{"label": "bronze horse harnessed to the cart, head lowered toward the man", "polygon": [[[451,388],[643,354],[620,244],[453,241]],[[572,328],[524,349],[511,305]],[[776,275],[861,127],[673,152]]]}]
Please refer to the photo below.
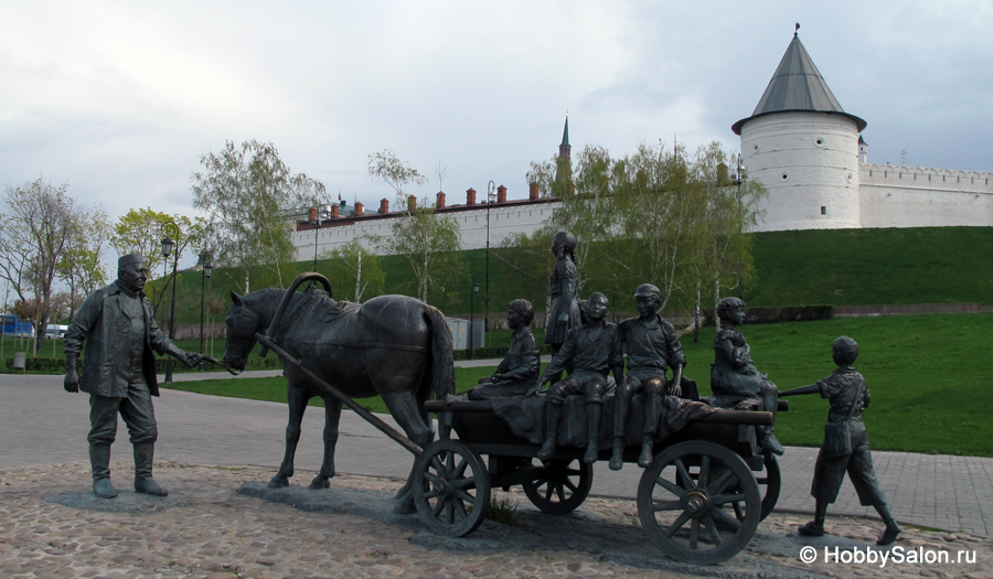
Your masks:
[{"label": "bronze horse harnessed to the cart, head lowered toward the man", "polygon": [[[451,331],[441,312],[406,296],[383,296],[361,307],[337,302],[322,277],[328,292],[316,288],[297,292],[302,279],[289,290],[232,292],[224,350],[228,369],[244,369],[257,342],[256,332],[266,334],[268,330],[274,342],[342,394],[352,398],[380,395],[407,437],[420,448],[427,447],[433,437],[424,401],[433,394],[440,399],[455,392]],[[269,328],[274,321],[278,328]],[[284,375],[289,405],[286,454],[269,486],[289,484],[303,411],[312,397],[320,396],[324,400],[324,458],[310,487],[327,489],[334,476],[341,403],[291,364],[284,363]],[[397,493],[397,511],[413,512],[409,485]]]}]

